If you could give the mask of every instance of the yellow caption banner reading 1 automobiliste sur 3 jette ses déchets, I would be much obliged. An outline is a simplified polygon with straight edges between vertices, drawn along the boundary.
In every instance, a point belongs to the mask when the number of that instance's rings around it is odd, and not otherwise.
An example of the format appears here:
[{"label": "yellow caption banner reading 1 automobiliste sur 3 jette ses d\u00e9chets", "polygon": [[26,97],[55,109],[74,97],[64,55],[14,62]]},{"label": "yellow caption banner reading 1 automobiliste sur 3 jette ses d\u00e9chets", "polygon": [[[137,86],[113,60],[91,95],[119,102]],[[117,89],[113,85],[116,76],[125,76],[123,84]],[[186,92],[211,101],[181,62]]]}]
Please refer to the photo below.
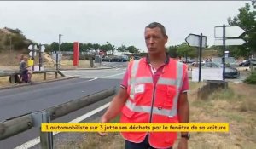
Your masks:
[{"label": "yellow caption banner reading 1 automobiliste sur 3 jette ses d\u00e9chets", "polygon": [[42,123],[42,132],[229,132],[229,123]]}]

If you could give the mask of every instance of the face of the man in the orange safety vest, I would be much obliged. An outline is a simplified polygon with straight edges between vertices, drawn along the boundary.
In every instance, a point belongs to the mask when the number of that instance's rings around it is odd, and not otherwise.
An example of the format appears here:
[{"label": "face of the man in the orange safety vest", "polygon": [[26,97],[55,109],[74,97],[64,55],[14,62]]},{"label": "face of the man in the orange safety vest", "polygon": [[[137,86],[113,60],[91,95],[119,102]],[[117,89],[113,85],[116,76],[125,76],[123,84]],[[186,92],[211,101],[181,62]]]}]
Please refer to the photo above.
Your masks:
[{"label": "face of the man in the orange safety vest", "polygon": [[146,28],[144,36],[149,54],[165,52],[168,37],[162,34],[159,27]]}]

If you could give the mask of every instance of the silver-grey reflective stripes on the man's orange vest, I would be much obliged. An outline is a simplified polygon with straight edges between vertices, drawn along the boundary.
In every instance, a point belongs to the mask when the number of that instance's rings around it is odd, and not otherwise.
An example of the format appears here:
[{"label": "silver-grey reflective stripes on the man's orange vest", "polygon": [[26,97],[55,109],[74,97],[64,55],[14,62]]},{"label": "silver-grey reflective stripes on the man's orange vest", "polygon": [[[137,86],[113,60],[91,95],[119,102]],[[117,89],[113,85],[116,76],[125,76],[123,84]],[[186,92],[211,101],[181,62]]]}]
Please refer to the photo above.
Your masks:
[{"label": "silver-grey reflective stripes on the man's orange vest", "polygon": [[[138,61],[138,60],[136,60]],[[135,75],[137,74],[137,68],[138,64],[134,63],[131,69],[131,80],[128,79],[128,85],[131,85],[131,94],[130,97],[132,100],[134,100],[134,86],[135,84],[139,83],[153,83],[152,77],[137,77],[135,78]],[[135,68],[134,68],[135,67]],[[181,88],[182,85],[182,77],[183,77],[183,64],[177,62],[177,79],[170,79],[170,78],[163,78],[160,77],[157,84],[163,84],[163,85],[175,85],[177,87],[177,92]],[[157,107],[153,107],[153,114],[158,114],[166,117],[174,117],[177,115],[177,100],[178,100],[179,94],[176,94],[173,101],[173,106],[171,110],[166,109],[158,109]],[[136,106],[135,103],[132,103],[131,100],[127,100],[125,103],[125,106],[127,106],[131,112],[146,112],[150,114],[151,106]]]}]

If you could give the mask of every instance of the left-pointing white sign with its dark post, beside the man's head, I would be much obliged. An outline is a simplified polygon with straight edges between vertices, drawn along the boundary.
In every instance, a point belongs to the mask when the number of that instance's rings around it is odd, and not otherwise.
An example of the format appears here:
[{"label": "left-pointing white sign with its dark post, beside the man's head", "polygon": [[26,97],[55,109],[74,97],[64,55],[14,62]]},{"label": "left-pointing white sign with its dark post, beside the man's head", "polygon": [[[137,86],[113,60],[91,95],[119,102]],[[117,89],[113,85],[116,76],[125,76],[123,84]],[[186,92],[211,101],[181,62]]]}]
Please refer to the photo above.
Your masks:
[{"label": "left-pointing white sign with its dark post, beside the man's head", "polygon": [[190,47],[198,47],[199,48],[198,82],[201,82],[201,50],[202,50],[202,48],[207,47],[207,37],[203,36],[202,33],[200,35],[189,34],[189,36],[186,37],[185,41],[189,44]]}]

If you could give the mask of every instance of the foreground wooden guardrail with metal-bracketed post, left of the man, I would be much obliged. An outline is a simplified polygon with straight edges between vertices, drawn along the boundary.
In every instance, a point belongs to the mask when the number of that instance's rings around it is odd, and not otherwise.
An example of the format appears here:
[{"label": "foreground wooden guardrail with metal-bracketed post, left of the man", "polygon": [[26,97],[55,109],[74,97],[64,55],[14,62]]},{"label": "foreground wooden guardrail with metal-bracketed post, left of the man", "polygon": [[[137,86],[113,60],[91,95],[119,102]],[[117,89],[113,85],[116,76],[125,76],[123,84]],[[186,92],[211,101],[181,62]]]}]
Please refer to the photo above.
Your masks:
[{"label": "foreground wooden guardrail with metal-bracketed post, left of the man", "polygon": [[[9,118],[2,123],[0,123],[0,140],[4,140],[9,138],[10,136],[20,134],[27,129],[31,129],[32,127],[40,127],[41,123],[49,123],[47,120],[49,117],[50,120],[53,120],[57,117],[62,117],[70,112],[74,112],[83,108],[84,106],[89,106],[99,100],[103,100],[111,95],[115,94],[115,87],[112,89],[105,89],[100,92],[97,92],[93,95],[87,95],[78,100],[71,100],[66,103],[63,103],[59,106],[50,107],[45,109],[42,112],[31,112],[19,117]],[[42,132],[41,132],[42,133]],[[49,140],[49,134],[45,135],[42,133],[40,137],[47,137]],[[50,148],[49,141],[41,141],[42,148]],[[48,147],[46,145],[42,145],[42,143],[48,143]]]}]

